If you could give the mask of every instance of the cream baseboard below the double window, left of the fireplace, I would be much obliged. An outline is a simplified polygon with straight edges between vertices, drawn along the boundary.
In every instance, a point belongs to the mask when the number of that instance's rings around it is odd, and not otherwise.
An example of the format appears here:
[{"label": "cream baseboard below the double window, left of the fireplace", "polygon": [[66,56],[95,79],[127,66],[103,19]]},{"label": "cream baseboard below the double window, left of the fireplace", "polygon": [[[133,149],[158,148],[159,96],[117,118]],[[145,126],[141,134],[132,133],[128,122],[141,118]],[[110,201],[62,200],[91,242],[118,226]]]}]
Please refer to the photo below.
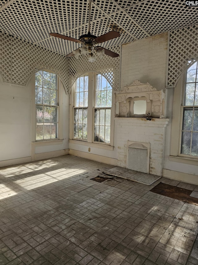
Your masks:
[{"label": "cream baseboard below the double window, left of the fireplace", "polygon": [[98,161],[98,162],[102,162],[102,163],[110,164],[110,165],[114,165],[114,166],[117,166],[117,163],[118,163],[117,162],[118,160],[115,158],[109,158],[109,157],[96,155],[96,154],[92,154],[92,153],[86,153],[86,152],[82,152],[82,151],[78,151],[78,150],[74,150],[74,149],[69,149],[69,155],[87,158],[90,160],[94,160],[94,161]]}]

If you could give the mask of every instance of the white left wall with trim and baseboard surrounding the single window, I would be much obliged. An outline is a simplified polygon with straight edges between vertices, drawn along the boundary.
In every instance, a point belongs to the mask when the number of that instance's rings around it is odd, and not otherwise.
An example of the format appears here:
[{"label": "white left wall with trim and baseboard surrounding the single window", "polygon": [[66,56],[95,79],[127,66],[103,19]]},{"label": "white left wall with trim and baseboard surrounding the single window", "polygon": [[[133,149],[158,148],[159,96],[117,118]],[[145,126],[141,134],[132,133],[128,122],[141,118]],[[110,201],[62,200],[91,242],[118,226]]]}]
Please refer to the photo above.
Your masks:
[{"label": "white left wall with trim and baseboard surrounding the single window", "polygon": [[[69,95],[60,85],[62,141],[31,144],[31,82],[26,86],[0,80],[0,166],[68,153]],[[34,122],[34,121],[33,121]]]}]

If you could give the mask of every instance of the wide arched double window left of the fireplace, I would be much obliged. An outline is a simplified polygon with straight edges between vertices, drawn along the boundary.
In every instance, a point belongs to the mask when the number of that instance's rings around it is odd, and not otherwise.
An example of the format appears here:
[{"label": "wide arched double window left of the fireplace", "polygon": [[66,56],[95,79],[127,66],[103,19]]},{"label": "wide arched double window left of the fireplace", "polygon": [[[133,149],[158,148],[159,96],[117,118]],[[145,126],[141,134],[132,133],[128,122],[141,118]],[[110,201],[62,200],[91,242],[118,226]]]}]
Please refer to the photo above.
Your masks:
[{"label": "wide arched double window left of the fireplace", "polygon": [[73,138],[110,144],[112,87],[101,74],[79,77],[74,89]]}]

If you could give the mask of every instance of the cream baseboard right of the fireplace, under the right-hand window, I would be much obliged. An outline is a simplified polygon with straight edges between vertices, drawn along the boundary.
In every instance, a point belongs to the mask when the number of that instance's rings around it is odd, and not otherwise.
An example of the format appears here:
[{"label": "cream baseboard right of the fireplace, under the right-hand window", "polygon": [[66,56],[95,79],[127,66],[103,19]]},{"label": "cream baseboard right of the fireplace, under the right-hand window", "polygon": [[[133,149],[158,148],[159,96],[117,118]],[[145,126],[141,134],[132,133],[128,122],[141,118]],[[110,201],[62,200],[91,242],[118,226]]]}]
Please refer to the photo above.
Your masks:
[{"label": "cream baseboard right of the fireplace, under the right-hand window", "polygon": [[162,176],[169,178],[169,179],[179,180],[179,181],[187,182],[190,184],[198,185],[197,175],[187,174],[187,173],[173,171],[169,169],[163,169]]}]

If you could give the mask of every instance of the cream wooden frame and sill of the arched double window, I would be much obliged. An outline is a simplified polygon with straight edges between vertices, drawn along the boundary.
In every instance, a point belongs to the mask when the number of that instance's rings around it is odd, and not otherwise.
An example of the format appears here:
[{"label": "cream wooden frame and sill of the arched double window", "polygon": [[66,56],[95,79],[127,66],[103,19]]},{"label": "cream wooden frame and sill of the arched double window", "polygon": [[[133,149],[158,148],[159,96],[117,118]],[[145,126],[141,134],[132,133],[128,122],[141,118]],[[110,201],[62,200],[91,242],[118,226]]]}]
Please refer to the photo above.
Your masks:
[{"label": "cream wooden frame and sill of the arched double window", "polygon": [[[94,146],[94,147],[99,147],[99,148],[104,148],[104,149],[111,149],[113,148],[113,139],[114,139],[114,94],[113,94],[113,87],[112,88],[112,102],[111,102],[111,120],[110,120],[110,143],[102,143],[102,142],[96,142],[94,141],[94,114],[95,114],[95,109],[98,109],[99,107],[95,107],[95,100],[96,100],[96,75],[101,73],[95,72],[95,71],[90,71],[87,72],[83,75],[88,75],[88,112],[87,112],[87,139],[76,139],[74,138],[74,104],[75,104],[75,82],[72,86],[72,92],[70,93],[70,113],[72,113],[72,117],[70,119],[70,142],[72,143],[78,143],[80,145],[88,145],[88,146]],[[81,76],[83,76],[81,75]],[[102,75],[104,76],[104,75]],[[79,76],[80,77],[80,76]],[[78,77],[78,78],[79,78]],[[105,76],[104,76],[105,77]],[[105,77],[107,80],[107,78]],[[108,80],[107,80],[108,81]],[[104,108],[104,107],[103,107]]]}]

